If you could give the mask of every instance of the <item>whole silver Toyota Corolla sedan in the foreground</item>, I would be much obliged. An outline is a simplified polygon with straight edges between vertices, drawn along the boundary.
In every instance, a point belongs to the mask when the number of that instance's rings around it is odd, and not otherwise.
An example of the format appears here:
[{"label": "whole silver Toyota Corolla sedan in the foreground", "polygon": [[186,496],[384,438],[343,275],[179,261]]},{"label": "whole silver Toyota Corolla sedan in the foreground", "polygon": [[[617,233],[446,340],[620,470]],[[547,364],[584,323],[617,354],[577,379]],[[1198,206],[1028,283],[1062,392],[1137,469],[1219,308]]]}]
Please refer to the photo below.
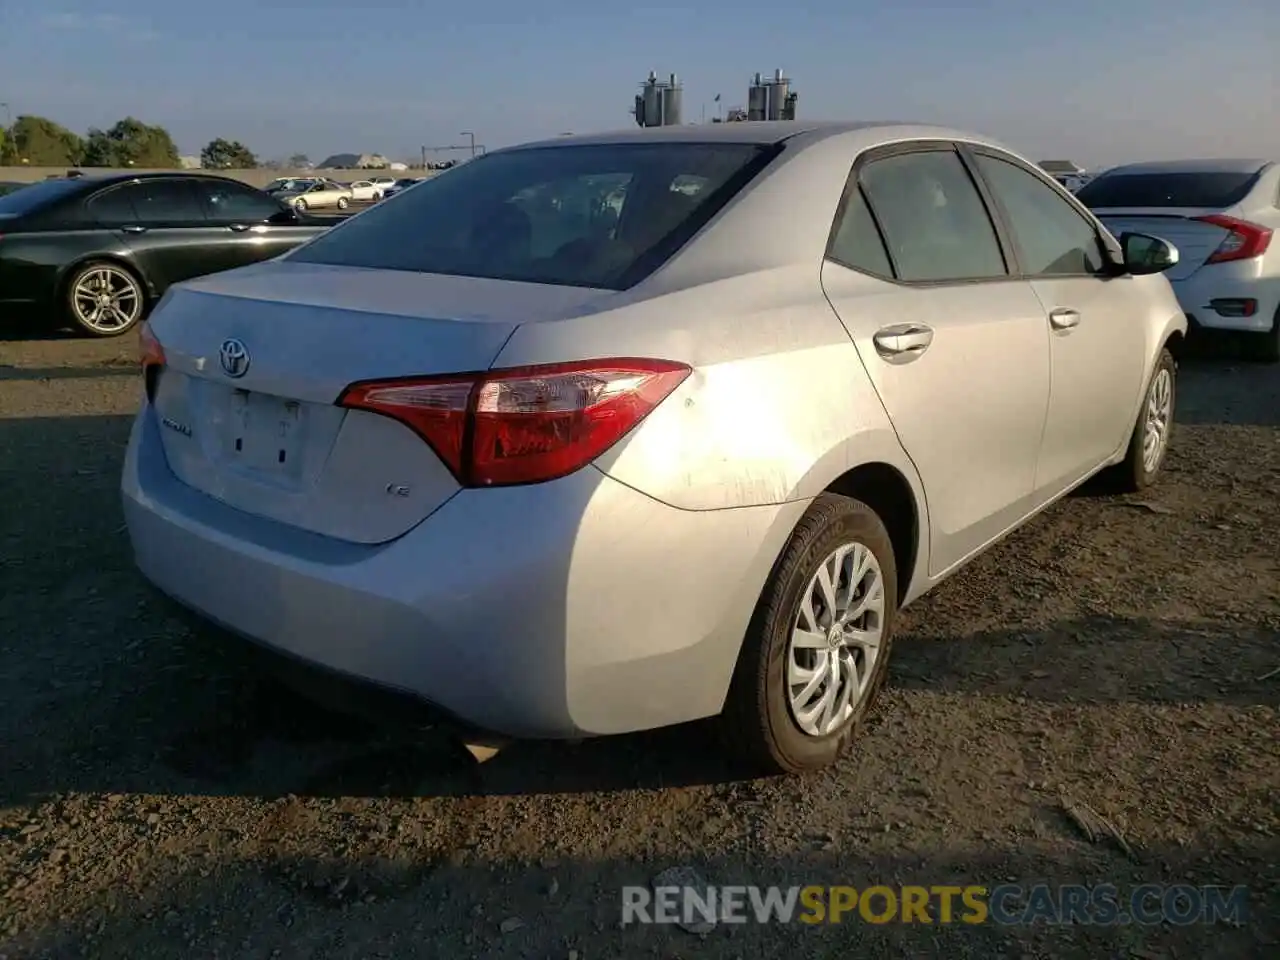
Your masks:
[{"label": "whole silver Toyota Corolla sedan in the foreground", "polygon": [[951,129],[495,151],[165,296],[137,563],[471,737],[719,716],[820,767],[899,609],[1091,475],[1156,477],[1176,259]]}]

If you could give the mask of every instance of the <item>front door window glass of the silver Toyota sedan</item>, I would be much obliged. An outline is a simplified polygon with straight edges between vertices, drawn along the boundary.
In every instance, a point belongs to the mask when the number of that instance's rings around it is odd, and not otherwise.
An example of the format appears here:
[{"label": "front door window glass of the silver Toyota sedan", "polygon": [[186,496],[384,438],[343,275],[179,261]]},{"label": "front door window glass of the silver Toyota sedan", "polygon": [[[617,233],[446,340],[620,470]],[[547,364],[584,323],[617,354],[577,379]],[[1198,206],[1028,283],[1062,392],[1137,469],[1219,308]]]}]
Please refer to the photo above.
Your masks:
[{"label": "front door window glass of the silver Toyota sedan", "polygon": [[978,170],[1009,219],[1023,274],[1102,273],[1097,230],[1052,187],[1018,164],[986,154],[978,155]]}]

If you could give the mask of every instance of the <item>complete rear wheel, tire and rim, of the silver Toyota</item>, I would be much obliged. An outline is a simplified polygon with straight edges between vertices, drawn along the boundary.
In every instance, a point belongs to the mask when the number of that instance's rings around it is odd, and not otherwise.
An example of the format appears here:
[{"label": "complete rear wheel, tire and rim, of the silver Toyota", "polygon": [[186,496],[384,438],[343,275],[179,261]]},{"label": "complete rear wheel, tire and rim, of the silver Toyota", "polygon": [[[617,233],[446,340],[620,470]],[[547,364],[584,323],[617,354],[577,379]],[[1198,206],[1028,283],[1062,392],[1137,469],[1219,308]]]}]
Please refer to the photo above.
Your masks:
[{"label": "complete rear wheel, tire and rim, of the silver Toyota", "polygon": [[897,567],[865,503],[823,494],[764,588],[721,718],[754,767],[799,773],[833,763],[888,669]]}]

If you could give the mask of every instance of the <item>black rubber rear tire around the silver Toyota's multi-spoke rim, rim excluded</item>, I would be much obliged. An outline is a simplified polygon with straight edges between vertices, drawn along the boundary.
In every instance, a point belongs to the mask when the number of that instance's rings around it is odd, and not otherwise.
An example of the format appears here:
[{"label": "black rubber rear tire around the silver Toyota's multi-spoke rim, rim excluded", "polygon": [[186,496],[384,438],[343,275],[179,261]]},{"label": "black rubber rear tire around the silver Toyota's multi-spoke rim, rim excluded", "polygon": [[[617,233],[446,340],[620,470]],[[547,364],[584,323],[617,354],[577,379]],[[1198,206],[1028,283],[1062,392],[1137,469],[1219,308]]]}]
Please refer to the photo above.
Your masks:
[{"label": "black rubber rear tire around the silver Toyota's multi-spoke rim, rim excluded", "polygon": [[[827,736],[804,732],[791,712],[786,660],[803,593],[832,552],[859,543],[876,557],[884,590],[879,655],[861,700]],[[721,716],[727,746],[762,773],[803,773],[835,763],[858,736],[888,672],[897,613],[897,566],[884,524],[860,500],[818,497],[773,567],[748,627]]]}]

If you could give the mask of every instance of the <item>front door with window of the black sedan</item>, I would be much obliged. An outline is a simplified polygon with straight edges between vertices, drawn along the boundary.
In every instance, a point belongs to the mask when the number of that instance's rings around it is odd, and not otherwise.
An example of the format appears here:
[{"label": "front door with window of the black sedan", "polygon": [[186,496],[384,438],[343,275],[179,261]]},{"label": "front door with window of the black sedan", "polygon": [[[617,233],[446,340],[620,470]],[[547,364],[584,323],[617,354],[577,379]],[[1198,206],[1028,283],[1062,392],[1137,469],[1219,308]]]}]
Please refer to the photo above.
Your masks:
[{"label": "front door with window of the black sedan", "polygon": [[319,228],[297,223],[279,201],[252,187],[232,180],[196,180],[207,221],[224,233],[211,264],[229,270],[279,256]]}]

